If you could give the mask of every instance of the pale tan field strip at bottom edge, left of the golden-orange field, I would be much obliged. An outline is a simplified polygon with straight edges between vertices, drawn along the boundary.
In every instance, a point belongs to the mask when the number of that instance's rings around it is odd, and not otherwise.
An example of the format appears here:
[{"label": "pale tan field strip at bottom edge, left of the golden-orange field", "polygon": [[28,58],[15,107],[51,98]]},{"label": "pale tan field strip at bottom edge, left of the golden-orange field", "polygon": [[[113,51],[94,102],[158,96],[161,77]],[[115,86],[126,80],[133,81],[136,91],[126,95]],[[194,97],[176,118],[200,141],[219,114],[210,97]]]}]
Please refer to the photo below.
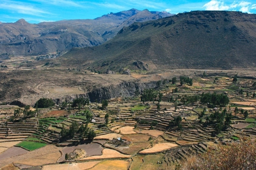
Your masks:
[{"label": "pale tan field strip at bottom edge, left of the golden-orange field", "polygon": [[81,163],[71,163],[71,164],[54,164],[54,165],[43,166],[42,170],[52,170],[52,169],[84,170],[84,169],[92,168],[93,166],[99,164],[99,162],[101,162],[101,161],[81,162]]}]

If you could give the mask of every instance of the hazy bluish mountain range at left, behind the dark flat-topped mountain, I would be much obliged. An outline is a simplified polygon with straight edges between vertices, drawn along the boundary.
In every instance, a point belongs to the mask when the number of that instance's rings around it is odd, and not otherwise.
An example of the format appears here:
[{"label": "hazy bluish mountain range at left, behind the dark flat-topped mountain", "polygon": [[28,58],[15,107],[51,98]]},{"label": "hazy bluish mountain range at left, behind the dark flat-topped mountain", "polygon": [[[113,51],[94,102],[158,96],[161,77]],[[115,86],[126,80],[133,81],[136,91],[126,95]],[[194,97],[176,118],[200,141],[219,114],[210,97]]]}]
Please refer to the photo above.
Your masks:
[{"label": "hazy bluish mountain range at left, behind the dark flat-topped mountain", "polygon": [[94,20],[61,20],[29,24],[24,19],[0,24],[0,58],[42,55],[73,47],[97,46],[113,38],[122,27],[168,17],[170,13],[136,10],[110,13]]}]

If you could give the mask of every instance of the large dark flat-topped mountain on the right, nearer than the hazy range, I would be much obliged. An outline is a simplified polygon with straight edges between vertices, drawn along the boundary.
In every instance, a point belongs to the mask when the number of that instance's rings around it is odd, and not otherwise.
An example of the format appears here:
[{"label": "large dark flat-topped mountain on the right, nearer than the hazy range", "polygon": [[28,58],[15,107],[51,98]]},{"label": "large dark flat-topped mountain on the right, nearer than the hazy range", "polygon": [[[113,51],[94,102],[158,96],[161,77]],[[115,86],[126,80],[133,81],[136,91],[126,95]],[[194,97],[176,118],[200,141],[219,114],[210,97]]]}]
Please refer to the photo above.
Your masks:
[{"label": "large dark flat-topped mountain on the right, nearer than the hazy range", "polygon": [[134,23],[103,45],[72,49],[62,59],[102,73],[122,73],[125,69],[255,68],[255,30],[255,14],[191,11]]}]

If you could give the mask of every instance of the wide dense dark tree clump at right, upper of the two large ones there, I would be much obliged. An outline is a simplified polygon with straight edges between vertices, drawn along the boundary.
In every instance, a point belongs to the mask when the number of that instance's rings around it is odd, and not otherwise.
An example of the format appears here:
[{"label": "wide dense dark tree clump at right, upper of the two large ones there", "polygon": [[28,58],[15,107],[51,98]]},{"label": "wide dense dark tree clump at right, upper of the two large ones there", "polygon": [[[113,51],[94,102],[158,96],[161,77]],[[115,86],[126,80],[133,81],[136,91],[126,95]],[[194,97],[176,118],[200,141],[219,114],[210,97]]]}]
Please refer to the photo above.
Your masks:
[{"label": "wide dense dark tree clump at right, upper of the two large ones there", "polygon": [[215,92],[213,94],[202,93],[200,102],[203,104],[210,103],[214,106],[218,105],[224,107],[229,103],[229,98],[226,94],[216,94]]}]

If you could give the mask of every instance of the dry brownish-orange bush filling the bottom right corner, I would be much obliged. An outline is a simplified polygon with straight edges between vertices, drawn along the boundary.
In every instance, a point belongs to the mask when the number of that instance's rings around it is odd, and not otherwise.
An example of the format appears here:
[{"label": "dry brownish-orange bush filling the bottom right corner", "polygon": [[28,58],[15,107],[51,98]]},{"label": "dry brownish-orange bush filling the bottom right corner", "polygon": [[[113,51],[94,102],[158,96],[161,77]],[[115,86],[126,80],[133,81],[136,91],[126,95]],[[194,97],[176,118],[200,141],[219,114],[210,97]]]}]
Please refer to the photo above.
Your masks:
[{"label": "dry brownish-orange bush filling the bottom right corner", "polygon": [[195,155],[180,169],[255,169],[256,143],[251,139],[240,139],[240,143],[220,144],[216,150]]}]

